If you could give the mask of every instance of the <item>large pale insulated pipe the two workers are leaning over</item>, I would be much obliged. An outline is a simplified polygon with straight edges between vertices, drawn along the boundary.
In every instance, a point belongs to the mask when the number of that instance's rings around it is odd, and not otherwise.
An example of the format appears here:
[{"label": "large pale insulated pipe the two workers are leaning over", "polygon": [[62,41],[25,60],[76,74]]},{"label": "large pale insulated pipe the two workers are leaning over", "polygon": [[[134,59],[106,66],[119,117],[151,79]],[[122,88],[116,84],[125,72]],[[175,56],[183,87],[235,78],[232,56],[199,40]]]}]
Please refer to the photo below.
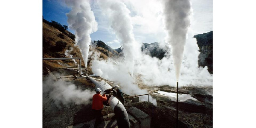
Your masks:
[{"label": "large pale insulated pipe the two workers are leaning over", "polygon": [[[105,93],[105,90],[112,88],[105,81],[99,82],[89,76],[88,78],[95,84],[95,89],[100,88],[102,90],[101,94]],[[130,128],[129,117],[125,106],[115,96],[109,98],[108,104],[115,113],[118,128]]]}]

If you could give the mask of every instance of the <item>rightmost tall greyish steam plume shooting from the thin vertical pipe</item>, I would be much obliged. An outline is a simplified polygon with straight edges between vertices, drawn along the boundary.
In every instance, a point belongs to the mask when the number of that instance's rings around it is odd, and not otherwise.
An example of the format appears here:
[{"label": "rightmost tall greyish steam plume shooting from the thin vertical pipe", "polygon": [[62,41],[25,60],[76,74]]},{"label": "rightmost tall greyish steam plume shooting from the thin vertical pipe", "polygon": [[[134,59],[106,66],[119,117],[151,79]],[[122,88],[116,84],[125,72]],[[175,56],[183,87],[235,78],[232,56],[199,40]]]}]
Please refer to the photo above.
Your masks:
[{"label": "rightmost tall greyish steam plume shooting from the thin vertical pipe", "polygon": [[189,0],[164,0],[166,41],[171,45],[171,52],[175,66],[176,79],[179,80],[183,51],[186,43],[186,33],[190,26]]}]

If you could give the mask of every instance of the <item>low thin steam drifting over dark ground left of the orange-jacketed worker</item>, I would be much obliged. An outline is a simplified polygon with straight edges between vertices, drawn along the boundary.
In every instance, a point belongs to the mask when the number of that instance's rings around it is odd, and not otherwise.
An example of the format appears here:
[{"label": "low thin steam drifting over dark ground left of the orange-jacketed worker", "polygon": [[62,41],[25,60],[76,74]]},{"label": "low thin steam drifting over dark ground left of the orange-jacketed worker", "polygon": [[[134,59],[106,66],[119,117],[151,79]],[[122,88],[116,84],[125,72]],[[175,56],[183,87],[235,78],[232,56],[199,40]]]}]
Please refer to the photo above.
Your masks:
[{"label": "low thin steam drifting over dark ground left of the orange-jacketed worker", "polygon": [[49,95],[56,104],[75,103],[76,105],[89,103],[92,96],[95,94],[91,90],[81,90],[75,84],[64,80],[53,80],[51,77],[46,77],[43,81],[43,94]]}]

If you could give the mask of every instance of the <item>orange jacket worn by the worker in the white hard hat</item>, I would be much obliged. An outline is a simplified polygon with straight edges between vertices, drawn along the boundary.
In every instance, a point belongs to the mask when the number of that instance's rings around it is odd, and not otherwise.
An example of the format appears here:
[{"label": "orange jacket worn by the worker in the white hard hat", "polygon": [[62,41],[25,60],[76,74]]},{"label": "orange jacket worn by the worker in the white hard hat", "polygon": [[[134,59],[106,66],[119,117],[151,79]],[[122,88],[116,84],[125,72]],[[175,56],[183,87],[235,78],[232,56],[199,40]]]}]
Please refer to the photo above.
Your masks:
[{"label": "orange jacket worn by the worker in the white hard hat", "polygon": [[93,105],[92,109],[94,110],[101,110],[103,108],[103,102],[107,101],[106,96],[102,96],[100,94],[93,95]]}]

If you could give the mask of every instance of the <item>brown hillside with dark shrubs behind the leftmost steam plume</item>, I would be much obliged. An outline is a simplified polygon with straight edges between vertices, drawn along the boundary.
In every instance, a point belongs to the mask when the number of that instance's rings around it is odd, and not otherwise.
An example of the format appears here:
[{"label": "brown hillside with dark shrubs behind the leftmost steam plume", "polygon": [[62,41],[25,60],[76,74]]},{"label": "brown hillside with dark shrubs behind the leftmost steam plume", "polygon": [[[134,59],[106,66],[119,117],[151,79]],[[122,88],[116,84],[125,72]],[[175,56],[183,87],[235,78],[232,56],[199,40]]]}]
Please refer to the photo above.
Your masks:
[{"label": "brown hillside with dark shrubs behind the leftmost steam plume", "polygon": [[[70,33],[66,31],[66,33]],[[82,54],[78,46],[75,46],[75,41],[69,38],[64,33],[60,32],[53,26],[50,26],[48,23],[43,22],[43,58],[70,58],[65,55],[67,49],[73,48],[73,51],[70,52],[73,55],[73,58],[81,58],[82,67],[85,67],[84,60],[82,58]],[[98,50],[99,49],[99,50]],[[102,47],[91,47],[90,51],[99,52],[101,59],[108,59],[108,56],[103,52],[109,53],[108,55],[114,56],[112,52],[108,52],[108,50]],[[91,58],[88,57],[87,67],[91,66]],[[46,71],[46,67],[50,70],[56,70],[56,67],[67,67],[74,66],[77,67],[79,64],[79,60],[75,60],[77,64],[75,64],[72,60],[43,60],[43,74],[48,74]]]}]

